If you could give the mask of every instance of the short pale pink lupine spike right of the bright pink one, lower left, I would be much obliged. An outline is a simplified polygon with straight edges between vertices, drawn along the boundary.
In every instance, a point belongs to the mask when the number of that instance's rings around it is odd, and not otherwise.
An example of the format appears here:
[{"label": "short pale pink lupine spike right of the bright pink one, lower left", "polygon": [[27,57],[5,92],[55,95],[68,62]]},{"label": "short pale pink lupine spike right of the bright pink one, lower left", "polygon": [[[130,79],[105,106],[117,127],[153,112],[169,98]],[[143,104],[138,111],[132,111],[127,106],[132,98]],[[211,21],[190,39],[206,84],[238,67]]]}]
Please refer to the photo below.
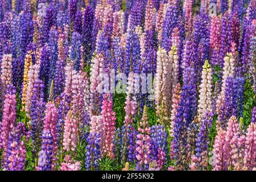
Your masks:
[{"label": "short pale pink lupine spike right of the bright pink one, lower left", "polygon": [[72,110],[68,111],[64,121],[63,150],[75,151],[78,140],[78,120],[73,116]]}]

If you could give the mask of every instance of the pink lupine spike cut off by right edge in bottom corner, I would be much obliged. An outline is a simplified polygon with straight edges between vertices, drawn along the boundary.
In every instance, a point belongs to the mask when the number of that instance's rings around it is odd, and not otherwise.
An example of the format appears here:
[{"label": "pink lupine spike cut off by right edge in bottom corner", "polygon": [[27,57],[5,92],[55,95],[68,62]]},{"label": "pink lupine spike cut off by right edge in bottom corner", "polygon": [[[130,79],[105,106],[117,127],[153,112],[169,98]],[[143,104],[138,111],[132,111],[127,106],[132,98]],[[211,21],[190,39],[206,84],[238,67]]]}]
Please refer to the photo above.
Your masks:
[{"label": "pink lupine spike cut off by right edge in bottom corner", "polygon": [[244,169],[253,170],[256,167],[256,123],[251,122],[246,134]]}]

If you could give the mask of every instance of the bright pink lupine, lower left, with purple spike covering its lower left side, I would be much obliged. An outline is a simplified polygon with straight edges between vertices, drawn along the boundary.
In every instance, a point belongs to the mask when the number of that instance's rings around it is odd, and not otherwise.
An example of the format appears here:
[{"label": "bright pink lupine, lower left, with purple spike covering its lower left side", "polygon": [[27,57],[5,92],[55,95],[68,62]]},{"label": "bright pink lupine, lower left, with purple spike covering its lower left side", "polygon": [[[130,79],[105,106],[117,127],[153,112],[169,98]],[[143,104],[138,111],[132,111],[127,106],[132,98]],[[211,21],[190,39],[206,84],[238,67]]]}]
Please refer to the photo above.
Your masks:
[{"label": "bright pink lupine, lower left, with purple spike covering its lower left side", "polygon": [[48,102],[46,105],[46,117],[44,117],[44,131],[51,131],[52,145],[53,145],[53,156],[57,150],[57,121],[58,121],[58,110],[53,102]]}]

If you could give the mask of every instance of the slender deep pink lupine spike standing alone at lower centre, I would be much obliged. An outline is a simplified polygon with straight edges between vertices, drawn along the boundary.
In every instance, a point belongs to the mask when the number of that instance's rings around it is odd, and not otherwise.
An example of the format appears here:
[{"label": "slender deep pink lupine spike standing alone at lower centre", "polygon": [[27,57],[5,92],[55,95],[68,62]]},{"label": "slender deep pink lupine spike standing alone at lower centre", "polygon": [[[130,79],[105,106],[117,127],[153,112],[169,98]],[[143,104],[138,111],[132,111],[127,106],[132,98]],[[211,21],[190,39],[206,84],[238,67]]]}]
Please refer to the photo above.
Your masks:
[{"label": "slender deep pink lupine spike standing alone at lower centre", "polygon": [[105,125],[104,154],[114,159],[115,112],[112,110],[112,107],[113,102],[110,94],[105,94],[101,111]]}]

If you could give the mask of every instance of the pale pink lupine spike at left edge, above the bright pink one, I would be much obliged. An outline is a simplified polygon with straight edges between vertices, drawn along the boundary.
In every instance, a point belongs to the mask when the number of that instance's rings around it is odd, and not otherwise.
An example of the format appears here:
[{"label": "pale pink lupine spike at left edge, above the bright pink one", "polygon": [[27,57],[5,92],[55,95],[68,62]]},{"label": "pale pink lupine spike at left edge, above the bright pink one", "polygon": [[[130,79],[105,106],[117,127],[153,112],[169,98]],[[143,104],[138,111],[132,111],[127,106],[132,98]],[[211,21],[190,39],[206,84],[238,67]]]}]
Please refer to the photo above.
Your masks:
[{"label": "pale pink lupine spike at left edge, above the bright pink one", "polygon": [[3,55],[1,63],[1,100],[5,100],[7,85],[13,83],[12,55]]}]

